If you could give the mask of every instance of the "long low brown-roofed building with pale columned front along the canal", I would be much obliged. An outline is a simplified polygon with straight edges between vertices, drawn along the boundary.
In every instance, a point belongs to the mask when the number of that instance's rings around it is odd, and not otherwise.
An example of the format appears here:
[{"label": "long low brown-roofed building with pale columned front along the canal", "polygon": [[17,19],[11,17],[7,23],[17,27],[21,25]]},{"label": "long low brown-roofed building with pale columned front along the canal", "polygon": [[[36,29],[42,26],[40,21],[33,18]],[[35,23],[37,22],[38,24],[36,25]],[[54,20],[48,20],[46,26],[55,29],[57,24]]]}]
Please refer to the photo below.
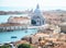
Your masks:
[{"label": "long low brown-roofed building with pale columned front along the canal", "polygon": [[4,23],[0,24],[0,31],[1,32],[10,32],[10,31],[16,31],[16,29],[23,29],[25,26],[23,24],[18,24],[18,23]]}]

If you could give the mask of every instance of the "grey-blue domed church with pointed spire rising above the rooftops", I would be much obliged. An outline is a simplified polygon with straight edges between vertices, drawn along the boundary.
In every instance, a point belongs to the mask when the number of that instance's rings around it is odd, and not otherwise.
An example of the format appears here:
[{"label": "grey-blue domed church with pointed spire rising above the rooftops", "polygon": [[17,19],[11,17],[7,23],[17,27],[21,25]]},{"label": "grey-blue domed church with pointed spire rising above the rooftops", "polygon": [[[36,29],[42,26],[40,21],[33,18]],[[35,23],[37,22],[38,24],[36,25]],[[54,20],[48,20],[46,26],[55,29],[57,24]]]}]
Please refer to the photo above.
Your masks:
[{"label": "grey-blue domed church with pointed spire rising above the rooftops", "polygon": [[36,5],[36,9],[34,10],[33,14],[31,15],[31,24],[34,26],[41,26],[45,24],[45,19],[43,17],[38,4]]}]

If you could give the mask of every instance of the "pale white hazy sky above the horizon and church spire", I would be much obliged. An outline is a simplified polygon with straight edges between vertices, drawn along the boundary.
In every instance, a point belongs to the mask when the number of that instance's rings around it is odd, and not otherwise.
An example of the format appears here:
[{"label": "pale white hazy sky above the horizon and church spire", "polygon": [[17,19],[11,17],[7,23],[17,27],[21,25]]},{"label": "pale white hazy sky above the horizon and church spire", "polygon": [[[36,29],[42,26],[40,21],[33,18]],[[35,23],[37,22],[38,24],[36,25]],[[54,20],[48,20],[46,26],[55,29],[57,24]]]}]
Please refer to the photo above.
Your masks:
[{"label": "pale white hazy sky above the horizon and church spire", "polygon": [[18,7],[18,8],[35,8],[40,4],[41,9],[53,10],[62,9],[66,10],[66,0],[0,0],[0,7]]}]

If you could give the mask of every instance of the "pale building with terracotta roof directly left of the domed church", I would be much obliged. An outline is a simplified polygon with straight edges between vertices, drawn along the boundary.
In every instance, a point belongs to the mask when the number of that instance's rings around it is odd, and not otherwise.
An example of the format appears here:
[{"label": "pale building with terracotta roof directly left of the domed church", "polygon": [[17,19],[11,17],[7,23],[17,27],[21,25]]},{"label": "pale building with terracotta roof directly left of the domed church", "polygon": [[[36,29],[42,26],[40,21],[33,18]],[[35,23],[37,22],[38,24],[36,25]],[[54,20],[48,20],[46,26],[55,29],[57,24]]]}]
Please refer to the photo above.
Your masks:
[{"label": "pale building with terracotta roof directly left of the domed church", "polygon": [[31,25],[31,19],[29,16],[10,16],[8,23],[19,23],[24,25]]}]

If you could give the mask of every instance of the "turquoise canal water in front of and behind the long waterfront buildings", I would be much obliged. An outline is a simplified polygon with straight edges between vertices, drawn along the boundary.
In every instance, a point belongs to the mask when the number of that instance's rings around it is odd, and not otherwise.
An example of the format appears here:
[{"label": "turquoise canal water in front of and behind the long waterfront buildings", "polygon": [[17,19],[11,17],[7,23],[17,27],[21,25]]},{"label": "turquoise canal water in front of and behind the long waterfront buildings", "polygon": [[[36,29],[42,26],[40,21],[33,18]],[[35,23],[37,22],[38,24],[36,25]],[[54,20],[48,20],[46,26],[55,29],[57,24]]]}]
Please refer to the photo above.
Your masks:
[{"label": "turquoise canal water in front of and behind the long waterfront buildings", "polygon": [[[6,23],[11,15],[0,15],[0,23]],[[15,16],[15,15],[13,15]],[[20,15],[18,15],[20,16]],[[22,37],[35,34],[37,29],[23,29],[23,31],[13,31],[13,32],[0,32],[0,44],[16,41]],[[12,38],[12,36],[14,36]]]}]

